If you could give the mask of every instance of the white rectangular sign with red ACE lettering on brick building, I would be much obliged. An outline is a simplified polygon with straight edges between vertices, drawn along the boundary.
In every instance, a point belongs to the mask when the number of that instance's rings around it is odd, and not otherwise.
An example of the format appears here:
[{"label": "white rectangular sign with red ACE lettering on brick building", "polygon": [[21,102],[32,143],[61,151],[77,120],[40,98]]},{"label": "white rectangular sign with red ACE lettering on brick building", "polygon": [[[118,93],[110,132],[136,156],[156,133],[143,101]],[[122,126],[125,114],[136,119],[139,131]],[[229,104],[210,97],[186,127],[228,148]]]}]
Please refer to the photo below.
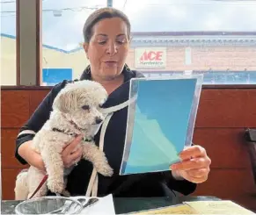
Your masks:
[{"label": "white rectangular sign with red ACE lettering on brick building", "polygon": [[136,68],[165,68],[166,47],[136,47]]}]

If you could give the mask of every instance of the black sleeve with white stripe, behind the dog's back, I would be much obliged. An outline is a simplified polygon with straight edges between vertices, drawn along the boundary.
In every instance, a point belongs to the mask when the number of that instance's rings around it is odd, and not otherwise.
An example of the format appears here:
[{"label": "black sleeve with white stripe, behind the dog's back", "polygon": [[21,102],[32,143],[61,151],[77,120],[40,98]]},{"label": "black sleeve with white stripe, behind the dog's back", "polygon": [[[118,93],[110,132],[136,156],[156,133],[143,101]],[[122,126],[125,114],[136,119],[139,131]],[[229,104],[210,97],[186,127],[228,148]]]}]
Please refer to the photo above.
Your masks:
[{"label": "black sleeve with white stripe, behind the dog's back", "polygon": [[56,95],[62,90],[67,82],[68,81],[63,81],[55,85],[55,87],[48,93],[47,97],[43,99],[37,109],[33,112],[31,118],[29,118],[26,124],[20,128],[15,147],[15,157],[20,163],[26,164],[27,162],[18,154],[18,147],[28,140],[33,140],[35,133],[37,133],[46,123],[50,112],[52,111],[52,104]]}]

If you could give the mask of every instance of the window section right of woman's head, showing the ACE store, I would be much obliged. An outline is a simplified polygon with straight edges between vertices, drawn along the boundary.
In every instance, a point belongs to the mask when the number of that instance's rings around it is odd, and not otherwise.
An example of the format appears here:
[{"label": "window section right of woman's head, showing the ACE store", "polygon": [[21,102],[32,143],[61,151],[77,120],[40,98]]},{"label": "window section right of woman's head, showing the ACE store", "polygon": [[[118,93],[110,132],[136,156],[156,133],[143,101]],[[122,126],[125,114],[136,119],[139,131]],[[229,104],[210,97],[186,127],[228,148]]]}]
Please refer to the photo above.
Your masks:
[{"label": "window section right of woman's head, showing the ACE store", "polygon": [[203,74],[205,84],[256,83],[255,1],[113,0],[113,7],[131,21],[132,69]]}]

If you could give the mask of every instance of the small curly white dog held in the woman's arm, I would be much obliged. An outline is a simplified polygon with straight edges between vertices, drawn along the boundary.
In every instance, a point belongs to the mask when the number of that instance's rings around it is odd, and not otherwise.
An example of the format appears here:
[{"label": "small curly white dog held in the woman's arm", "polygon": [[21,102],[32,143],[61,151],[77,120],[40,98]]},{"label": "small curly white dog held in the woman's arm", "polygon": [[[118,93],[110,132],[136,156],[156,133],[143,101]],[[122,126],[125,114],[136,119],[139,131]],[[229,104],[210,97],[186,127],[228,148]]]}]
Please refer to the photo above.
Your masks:
[{"label": "small curly white dog held in the woman's arm", "polygon": [[[68,83],[55,97],[50,118],[33,138],[33,148],[41,154],[45,163],[48,181],[33,197],[42,197],[48,189],[65,193],[62,150],[79,134],[84,136],[83,158],[91,161],[103,176],[112,176],[113,169],[105,154],[92,141],[104,120],[100,105],[107,98],[106,90],[98,83],[80,81]],[[70,169],[68,169],[70,172]],[[17,200],[28,199],[43,180],[45,173],[31,166],[18,174],[15,187]]]}]

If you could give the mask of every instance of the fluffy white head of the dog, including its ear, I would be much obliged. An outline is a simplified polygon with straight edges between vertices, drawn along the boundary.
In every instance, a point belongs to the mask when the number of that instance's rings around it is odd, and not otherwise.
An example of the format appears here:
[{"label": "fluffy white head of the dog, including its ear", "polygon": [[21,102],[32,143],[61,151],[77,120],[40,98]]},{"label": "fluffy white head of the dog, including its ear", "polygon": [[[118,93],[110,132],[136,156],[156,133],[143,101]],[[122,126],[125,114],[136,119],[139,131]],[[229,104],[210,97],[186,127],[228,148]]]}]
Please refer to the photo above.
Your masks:
[{"label": "fluffy white head of the dog, including its ear", "polygon": [[100,107],[106,98],[106,90],[98,82],[72,82],[55,97],[53,109],[61,111],[79,128],[88,131],[93,126],[99,127],[104,120]]}]

